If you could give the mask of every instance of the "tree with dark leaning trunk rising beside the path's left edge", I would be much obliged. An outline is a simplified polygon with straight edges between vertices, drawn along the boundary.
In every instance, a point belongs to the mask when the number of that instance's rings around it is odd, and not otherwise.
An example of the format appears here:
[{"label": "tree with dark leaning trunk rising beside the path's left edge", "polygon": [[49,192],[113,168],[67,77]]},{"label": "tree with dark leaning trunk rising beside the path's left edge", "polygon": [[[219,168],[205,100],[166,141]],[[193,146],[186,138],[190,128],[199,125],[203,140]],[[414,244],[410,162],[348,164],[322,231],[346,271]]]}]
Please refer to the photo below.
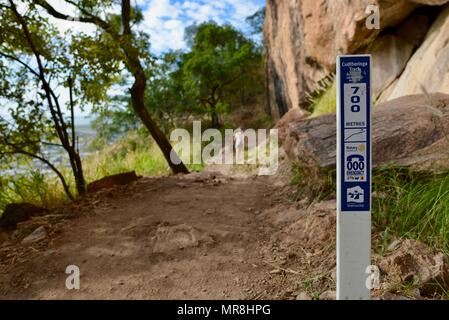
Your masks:
[{"label": "tree with dark leaning trunk rising beside the path's left edge", "polygon": [[[138,8],[131,6],[130,0],[122,0],[120,14],[113,14],[117,4],[112,0],[64,0],[68,5],[75,6],[80,15],[72,17],[55,9],[48,1],[34,0],[36,4],[44,8],[55,18],[67,21],[80,21],[95,25],[101,34],[103,42],[99,43],[98,54],[86,56],[91,58],[91,64],[98,64],[103,68],[109,61],[123,63],[127,71],[134,79],[130,89],[131,102],[135,114],[147,127],[152,137],[159,145],[165,159],[175,173],[187,173],[188,170],[182,162],[171,161],[171,155],[176,155],[167,137],[158,127],[145,106],[145,93],[149,74],[146,70],[151,65],[151,57],[148,50],[148,37],[145,33],[136,29],[136,25],[142,20],[142,14]],[[104,14],[106,12],[106,14]],[[86,39],[87,42],[94,42]],[[105,45],[106,44],[106,45]]]}]

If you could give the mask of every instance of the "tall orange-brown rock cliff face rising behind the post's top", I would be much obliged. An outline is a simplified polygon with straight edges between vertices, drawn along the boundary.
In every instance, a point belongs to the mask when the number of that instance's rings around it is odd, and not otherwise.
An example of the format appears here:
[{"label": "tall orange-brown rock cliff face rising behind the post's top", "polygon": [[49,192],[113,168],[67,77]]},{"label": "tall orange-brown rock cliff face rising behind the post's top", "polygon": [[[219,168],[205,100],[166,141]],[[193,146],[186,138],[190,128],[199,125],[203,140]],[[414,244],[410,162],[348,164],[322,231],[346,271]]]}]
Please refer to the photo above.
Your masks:
[{"label": "tall orange-brown rock cliff face rising behind the post's top", "polygon": [[[429,7],[448,2],[268,0],[264,34],[268,55],[268,100],[273,116],[280,118],[289,109],[306,106],[307,93],[316,89],[319,80],[335,72],[338,54],[373,54],[375,96],[382,96],[384,101],[398,95],[422,93],[399,89],[404,87],[402,83],[409,82],[410,76],[406,75],[423,59],[419,57],[430,57],[426,65],[430,68],[425,74],[435,86],[430,85],[429,92],[449,93],[449,87],[442,90],[443,84],[436,80],[449,71],[435,72],[437,67],[433,63],[437,52],[443,62],[447,61],[444,60],[447,55],[441,52],[449,48],[444,46],[449,37],[444,23],[447,9]],[[366,27],[366,21],[373,13],[367,10],[369,5],[379,8],[379,30]],[[435,12],[442,10],[440,18],[433,23]],[[432,31],[426,36],[431,23]],[[413,54],[423,40],[426,45]],[[411,72],[404,72],[406,68]],[[395,79],[402,77],[404,80],[395,83]],[[388,92],[383,94],[385,91]]]}]

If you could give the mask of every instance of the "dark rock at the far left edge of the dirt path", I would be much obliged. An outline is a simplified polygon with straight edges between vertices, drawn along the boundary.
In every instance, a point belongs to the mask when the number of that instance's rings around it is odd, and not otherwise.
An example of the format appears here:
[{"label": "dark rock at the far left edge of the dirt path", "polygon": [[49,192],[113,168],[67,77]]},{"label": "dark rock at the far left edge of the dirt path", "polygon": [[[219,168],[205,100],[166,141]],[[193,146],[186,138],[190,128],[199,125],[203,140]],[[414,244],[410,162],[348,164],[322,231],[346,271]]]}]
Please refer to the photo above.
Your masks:
[{"label": "dark rock at the far left edge of the dirt path", "polygon": [[0,228],[11,230],[20,222],[26,221],[34,216],[40,216],[47,212],[47,209],[37,207],[30,203],[11,203],[5,207],[0,217]]}]

